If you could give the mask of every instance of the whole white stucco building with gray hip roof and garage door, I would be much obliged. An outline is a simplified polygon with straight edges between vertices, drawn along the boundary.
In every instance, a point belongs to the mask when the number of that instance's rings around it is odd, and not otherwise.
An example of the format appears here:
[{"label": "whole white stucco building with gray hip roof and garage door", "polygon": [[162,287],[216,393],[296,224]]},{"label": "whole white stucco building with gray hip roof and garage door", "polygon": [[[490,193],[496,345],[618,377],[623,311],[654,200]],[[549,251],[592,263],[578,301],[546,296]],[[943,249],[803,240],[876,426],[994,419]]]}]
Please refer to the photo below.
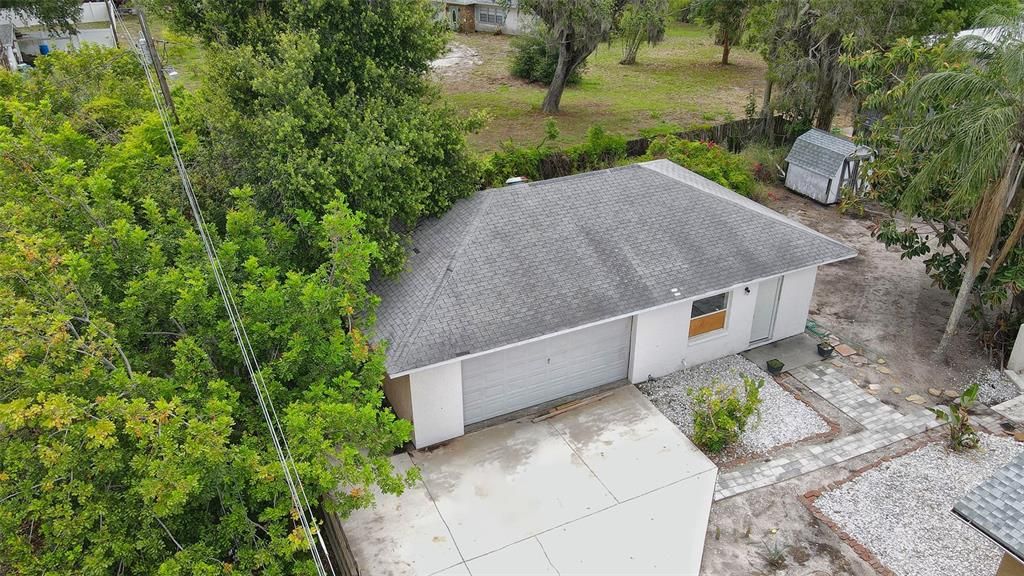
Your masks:
[{"label": "whole white stucco building with gray hip roof and garage door", "polygon": [[375,279],[385,392],[418,448],[803,332],[851,248],[667,160],[478,193]]}]

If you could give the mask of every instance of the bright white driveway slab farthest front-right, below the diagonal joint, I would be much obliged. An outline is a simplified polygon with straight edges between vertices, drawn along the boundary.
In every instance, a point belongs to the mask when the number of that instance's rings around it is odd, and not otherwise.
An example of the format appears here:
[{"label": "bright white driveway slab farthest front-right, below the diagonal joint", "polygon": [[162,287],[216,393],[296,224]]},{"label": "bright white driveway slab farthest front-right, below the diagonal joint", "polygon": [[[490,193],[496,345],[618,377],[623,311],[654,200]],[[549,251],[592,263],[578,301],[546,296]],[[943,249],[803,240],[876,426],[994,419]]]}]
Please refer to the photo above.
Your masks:
[{"label": "bright white driveway slab farthest front-right, below the diagonal joint", "polygon": [[560,574],[698,574],[716,477],[703,472],[538,540]]}]

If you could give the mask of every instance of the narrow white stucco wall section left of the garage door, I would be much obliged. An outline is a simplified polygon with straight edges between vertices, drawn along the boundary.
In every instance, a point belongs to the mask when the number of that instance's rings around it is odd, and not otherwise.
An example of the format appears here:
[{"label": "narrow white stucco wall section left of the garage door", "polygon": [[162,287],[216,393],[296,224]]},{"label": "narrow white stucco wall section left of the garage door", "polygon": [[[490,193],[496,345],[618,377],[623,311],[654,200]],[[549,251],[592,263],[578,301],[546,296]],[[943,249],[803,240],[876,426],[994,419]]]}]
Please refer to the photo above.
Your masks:
[{"label": "narrow white stucco wall section left of the garage door", "polygon": [[413,444],[417,448],[465,433],[461,362],[413,372],[409,374],[409,387],[413,400]]}]

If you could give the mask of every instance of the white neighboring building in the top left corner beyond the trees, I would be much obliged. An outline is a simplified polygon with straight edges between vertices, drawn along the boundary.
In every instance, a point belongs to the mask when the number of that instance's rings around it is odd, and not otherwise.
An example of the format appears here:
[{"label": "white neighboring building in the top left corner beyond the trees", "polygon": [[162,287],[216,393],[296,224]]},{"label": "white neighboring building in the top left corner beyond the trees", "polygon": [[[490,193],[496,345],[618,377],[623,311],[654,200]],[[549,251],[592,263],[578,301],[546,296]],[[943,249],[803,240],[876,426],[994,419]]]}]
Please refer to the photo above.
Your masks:
[{"label": "white neighboring building in the top left corner beyond the trees", "polygon": [[[117,46],[117,34],[111,17],[112,5],[106,2],[83,2],[82,15],[75,34],[50,32],[42,23],[26,18],[11,10],[0,10],[0,47],[4,50],[4,66],[13,70],[18,64],[32,64],[39,55],[52,50],[80,48],[82,44]],[[6,43],[10,30],[12,38]],[[11,60],[13,58],[13,63]]]}]

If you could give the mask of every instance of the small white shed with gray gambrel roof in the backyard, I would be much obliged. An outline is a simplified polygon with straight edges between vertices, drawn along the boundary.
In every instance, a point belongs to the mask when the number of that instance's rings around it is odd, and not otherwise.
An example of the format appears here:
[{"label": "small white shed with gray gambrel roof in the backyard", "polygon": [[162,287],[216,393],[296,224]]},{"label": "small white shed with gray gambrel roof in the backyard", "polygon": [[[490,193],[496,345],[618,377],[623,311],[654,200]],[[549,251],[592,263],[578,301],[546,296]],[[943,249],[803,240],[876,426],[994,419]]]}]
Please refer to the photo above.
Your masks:
[{"label": "small white shed with gray gambrel roof in the backyard", "polygon": [[860,163],[870,157],[867,147],[812,128],[797,138],[785,157],[785,188],[822,204],[836,204],[844,188],[861,190]]}]

